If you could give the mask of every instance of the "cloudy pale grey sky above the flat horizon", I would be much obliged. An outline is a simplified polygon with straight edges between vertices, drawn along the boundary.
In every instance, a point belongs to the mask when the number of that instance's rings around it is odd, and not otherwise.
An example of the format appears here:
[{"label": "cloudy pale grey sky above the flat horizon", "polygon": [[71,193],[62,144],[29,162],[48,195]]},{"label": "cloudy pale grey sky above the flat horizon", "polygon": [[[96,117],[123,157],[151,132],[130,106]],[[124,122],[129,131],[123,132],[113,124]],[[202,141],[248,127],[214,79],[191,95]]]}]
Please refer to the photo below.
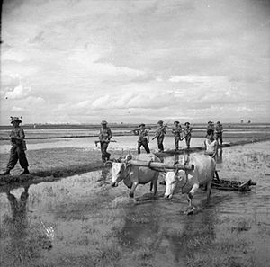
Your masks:
[{"label": "cloudy pale grey sky above the flat horizon", "polygon": [[2,125],[270,122],[270,0],[2,8]]}]

